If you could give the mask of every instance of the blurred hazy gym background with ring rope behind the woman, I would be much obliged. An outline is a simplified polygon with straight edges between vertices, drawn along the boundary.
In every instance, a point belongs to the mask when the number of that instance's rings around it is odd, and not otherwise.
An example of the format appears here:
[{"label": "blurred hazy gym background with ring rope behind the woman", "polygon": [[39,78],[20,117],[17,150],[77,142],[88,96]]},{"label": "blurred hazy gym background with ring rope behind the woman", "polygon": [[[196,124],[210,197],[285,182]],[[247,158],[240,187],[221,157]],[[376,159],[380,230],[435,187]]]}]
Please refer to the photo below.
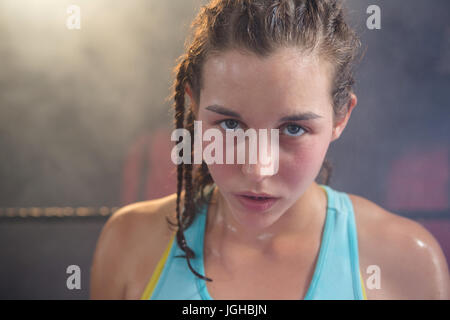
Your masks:
[{"label": "blurred hazy gym background with ring rope behind the woman", "polygon": [[[0,1],[0,299],[88,299],[108,217],[175,192],[166,98],[206,2]],[[66,26],[72,4],[80,29]],[[366,27],[372,4],[380,30]],[[420,222],[449,261],[450,2],[347,7],[366,53],[330,186]]]}]

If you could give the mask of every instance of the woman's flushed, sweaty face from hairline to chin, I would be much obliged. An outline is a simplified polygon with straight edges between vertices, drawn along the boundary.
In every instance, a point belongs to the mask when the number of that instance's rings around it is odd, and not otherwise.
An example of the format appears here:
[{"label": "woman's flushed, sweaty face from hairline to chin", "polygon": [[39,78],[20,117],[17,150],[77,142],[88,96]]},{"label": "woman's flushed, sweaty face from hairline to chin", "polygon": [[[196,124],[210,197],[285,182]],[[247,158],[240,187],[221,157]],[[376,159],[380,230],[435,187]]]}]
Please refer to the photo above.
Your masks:
[{"label": "woman's flushed, sweaty face from hairline to chin", "polygon": [[[328,64],[280,49],[267,59],[228,51],[211,56],[203,68],[203,89],[196,119],[202,129],[279,129],[279,166],[272,175],[260,174],[260,162],[210,164],[209,172],[227,209],[246,228],[266,228],[287,210],[316,179],[328,146],[334,140],[331,79]],[[188,94],[191,96],[190,92]],[[240,117],[208,110],[221,106]],[[197,109],[198,108],[198,109]],[[207,109],[208,108],[208,109]],[[281,118],[314,114],[309,120]],[[227,120],[227,121],[226,121]],[[268,140],[270,143],[270,140]],[[203,142],[203,150],[211,142]],[[223,142],[225,150],[225,139]],[[236,150],[235,150],[236,151]],[[246,148],[248,152],[248,147]],[[224,157],[226,152],[224,151]],[[272,159],[273,160],[273,159]],[[253,191],[278,197],[264,212],[248,210],[236,193]],[[294,206],[295,207],[295,206]]]}]

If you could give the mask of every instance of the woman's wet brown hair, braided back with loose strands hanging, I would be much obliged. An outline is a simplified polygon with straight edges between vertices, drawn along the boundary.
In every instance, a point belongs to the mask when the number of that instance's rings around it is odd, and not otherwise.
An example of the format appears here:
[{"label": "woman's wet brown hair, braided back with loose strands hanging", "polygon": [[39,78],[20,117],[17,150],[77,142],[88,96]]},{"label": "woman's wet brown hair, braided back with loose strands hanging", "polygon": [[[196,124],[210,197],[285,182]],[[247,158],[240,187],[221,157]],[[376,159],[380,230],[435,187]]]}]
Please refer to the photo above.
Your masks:
[{"label": "woman's wet brown hair, braided back with loose strands hanging", "polygon": [[[175,81],[169,98],[174,101],[175,128],[185,128],[194,136],[194,106],[185,107],[185,90],[189,85],[199,106],[202,68],[208,57],[238,50],[264,58],[280,48],[297,48],[299,54],[317,56],[329,63],[335,125],[348,111],[354,85],[353,65],[360,47],[359,38],[344,15],[345,9],[338,0],[212,0],[202,6],[191,24],[185,53],[174,68]],[[323,184],[329,183],[331,170],[330,162],[325,159],[319,172]],[[194,221],[199,206],[207,201],[204,189],[213,183],[205,162],[195,167],[179,164],[177,221],[167,219],[170,226],[177,227],[176,241],[185,252],[178,257],[186,258],[189,269],[207,281],[212,279],[192,268],[190,260],[195,258],[195,253],[186,243],[184,231]],[[183,184],[184,211],[180,214]]]}]

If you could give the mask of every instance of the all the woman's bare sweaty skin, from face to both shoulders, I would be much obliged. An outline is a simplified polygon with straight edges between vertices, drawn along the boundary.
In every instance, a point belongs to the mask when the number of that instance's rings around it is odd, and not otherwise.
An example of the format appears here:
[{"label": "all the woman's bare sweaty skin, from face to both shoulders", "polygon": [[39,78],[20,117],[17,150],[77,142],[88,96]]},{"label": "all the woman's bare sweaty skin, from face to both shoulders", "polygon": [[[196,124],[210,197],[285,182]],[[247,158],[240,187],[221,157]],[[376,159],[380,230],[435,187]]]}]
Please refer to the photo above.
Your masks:
[{"label": "all the woman's bare sweaty skin, from face to both shoulders", "polygon": [[[204,130],[224,126],[279,128],[279,170],[260,175],[260,164],[209,165],[217,185],[205,230],[206,282],[214,299],[302,299],[315,268],[327,198],[314,181],[330,143],[344,130],[357,99],[333,126],[330,68],[317,57],[280,49],[267,59],[237,51],[209,57],[197,105],[186,93]],[[240,119],[206,108],[223,107]],[[281,123],[292,114],[319,118]],[[223,120],[232,119],[225,123]],[[287,130],[288,126],[302,129]],[[264,214],[244,210],[234,193],[280,197]],[[181,195],[183,206],[184,192]],[[381,270],[381,288],[368,299],[448,299],[449,273],[436,239],[417,222],[349,194],[358,234],[364,283],[370,266]],[[171,239],[166,218],[176,221],[176,194],[126,206],[105,225],[91,271],[92,299],[139,299]],[[257,271],[257,272],[255,272]],[[239,288],[239,290],[236,290]]]}]

